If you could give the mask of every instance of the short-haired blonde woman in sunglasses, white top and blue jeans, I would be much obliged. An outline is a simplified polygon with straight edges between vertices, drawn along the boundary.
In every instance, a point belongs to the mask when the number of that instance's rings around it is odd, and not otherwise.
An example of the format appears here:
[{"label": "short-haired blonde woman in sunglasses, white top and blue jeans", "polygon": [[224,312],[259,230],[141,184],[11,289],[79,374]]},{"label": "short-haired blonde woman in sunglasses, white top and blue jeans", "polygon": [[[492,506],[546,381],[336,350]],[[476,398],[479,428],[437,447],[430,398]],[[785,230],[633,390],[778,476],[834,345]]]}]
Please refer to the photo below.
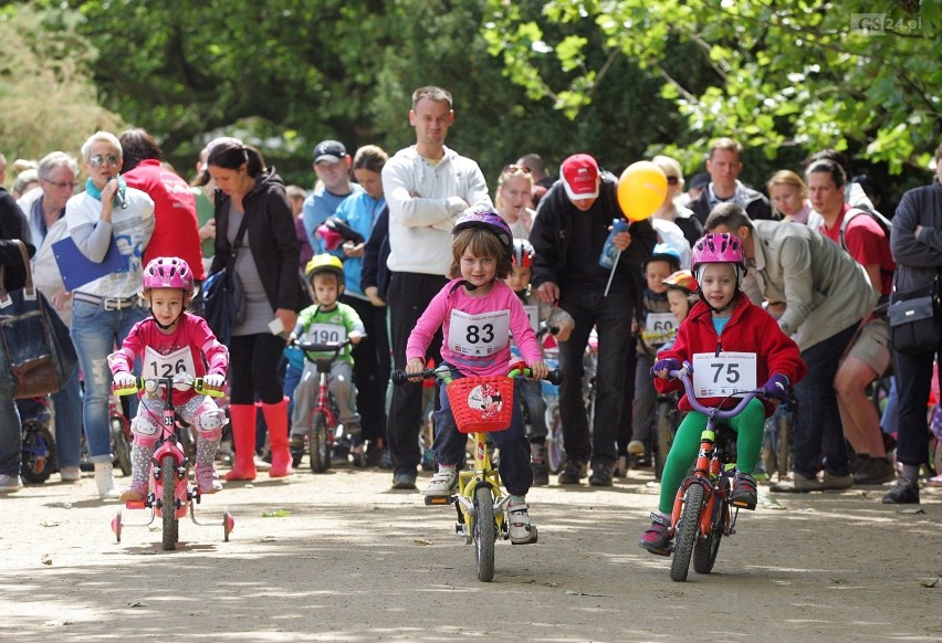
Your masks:
[{"label": "short-haired blonde woman in sunglasses, white top and blue jeans", "polygon": [[[132,326],[148,314],[138,291],[144,270],[140,257],[154,233],[154,201],[145,192],[127,187],[119,176],[123,150],[114,134],[93,134],[82,145],[82,157],[88,180],[85,191],[65,204],[69,235],[88,262],[105,263],[106,257],[113,256],[108,250],[114,247],[119,265],[72,293],[72,341],[85,376],[82,415],[98,496],[117,498],[121,494],[112,477],[112,372],[107,357],[115,346],[121,346]],[[66,266],[62,270],[64,274],[77,272],[77,266],[76,271]],[[132,415],[136,405],[132,400]]]}]

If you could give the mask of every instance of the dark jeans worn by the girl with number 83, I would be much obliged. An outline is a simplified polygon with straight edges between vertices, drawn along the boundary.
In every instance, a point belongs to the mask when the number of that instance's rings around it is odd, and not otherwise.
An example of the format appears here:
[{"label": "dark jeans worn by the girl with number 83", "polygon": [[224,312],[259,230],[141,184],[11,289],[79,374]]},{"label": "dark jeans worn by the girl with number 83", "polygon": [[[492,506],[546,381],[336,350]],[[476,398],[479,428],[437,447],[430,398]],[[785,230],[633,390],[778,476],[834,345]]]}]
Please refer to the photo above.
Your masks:
[{"label": "dark jeans worn by the girl with number 83", "polygon": [[[453,369],[451,372],[458,375]],[[468,435],[458,431],[444,384],[439,390],[441,407],[435,412],[435,460],[439,464],[456,464],[461,468],[464,465]],[[525,496],[533,486],[533,470],[530,466],[530,443],[526,441],[520,404],[513,404],[510,429],[494,431],[489,436],[501,450],[498,471],[507,493]]]}]

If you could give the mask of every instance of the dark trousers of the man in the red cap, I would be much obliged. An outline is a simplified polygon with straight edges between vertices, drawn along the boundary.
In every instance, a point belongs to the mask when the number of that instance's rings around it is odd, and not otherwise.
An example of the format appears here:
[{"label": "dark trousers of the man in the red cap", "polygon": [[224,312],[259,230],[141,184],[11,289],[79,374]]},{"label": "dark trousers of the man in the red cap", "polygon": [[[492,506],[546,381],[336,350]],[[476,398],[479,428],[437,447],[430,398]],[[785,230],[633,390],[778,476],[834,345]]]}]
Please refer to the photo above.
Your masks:
[{"label": "dark trousers of the man in the red cap", "polygon": [[[569,458],[578,462],[611,464],[616,460],[615,439],[625,382],[626,362],[631,338],[635,301],[630,293],[586,293],[571,288],[563,292],[559,307],[575,319],[569,339],[559,342],[559,418],[563,443]],[[595,426],[589,439],[588,415],[583,400],[583,357],[589,333],[598,333],[598,370],[595,382]]]}]

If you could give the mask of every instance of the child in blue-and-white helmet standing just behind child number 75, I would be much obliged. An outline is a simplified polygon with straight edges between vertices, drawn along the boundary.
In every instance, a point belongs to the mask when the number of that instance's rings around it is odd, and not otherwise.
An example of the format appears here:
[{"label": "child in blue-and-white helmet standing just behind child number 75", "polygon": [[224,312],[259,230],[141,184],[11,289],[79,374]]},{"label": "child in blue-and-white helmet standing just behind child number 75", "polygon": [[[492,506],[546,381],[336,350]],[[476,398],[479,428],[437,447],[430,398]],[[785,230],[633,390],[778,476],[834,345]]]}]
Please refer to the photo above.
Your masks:
[{"label": "child in blue-and-white helmet standing just behind child number 75", "polygon": [[648,452],[655,405],[658,394],[649,377],[657,351],[673,338],[679,326],[670,312],[664,280],[680,270],[680,253],[667,243],[658,243],[645,262],[647,287],[641,297],[641,318],[638,319],[638,361],[635,376],[635,399],[631,402],[631,441],[628,453],[643,457]]}]

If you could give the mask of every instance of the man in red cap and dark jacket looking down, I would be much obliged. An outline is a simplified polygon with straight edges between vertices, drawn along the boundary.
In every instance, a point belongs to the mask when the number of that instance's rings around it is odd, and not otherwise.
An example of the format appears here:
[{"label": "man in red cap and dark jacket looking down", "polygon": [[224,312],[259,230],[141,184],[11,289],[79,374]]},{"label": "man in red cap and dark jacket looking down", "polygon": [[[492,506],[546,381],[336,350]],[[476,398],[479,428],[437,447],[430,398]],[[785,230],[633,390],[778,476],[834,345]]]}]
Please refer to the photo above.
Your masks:
[{"label": "man in red cap and dark jacket looking down", "polygon": [[[624,217],[617,198],[618,181],[613,175],[600,172],[595,159],[584,154],[563,161],[561,175],[562,180],[541,200],[530,234],[536,251],[533,286],[537,295],[543,302],[558,302],[576,323],[569,339],[559,345],[564,375],[559,409],[568,456],[559,484],[578,484],[592,460],[589,484],[609,486],[631,347],[631,318],[641,295],[641,266],[655,247],[657,233],[645,220],[615,235],[614,243],[622,252],[606,295],[611,271],[599,266],[598,259],[613,219]],[[589,440],[583,402],[583,357],[593,326],[598,333],[598,370]]]}]

